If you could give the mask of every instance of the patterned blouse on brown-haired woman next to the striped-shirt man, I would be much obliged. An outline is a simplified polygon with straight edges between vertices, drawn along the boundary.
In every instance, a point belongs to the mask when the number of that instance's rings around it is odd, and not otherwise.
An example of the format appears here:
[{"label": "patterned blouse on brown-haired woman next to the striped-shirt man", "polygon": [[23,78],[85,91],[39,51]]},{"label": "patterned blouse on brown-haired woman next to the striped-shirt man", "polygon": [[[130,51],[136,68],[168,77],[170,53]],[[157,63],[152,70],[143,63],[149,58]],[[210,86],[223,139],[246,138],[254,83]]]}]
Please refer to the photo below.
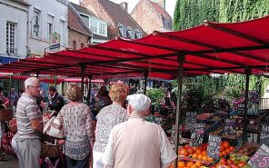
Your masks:
[{"label": "patterned blouse on brown-haired woman next to the striped-shirt man", "polygon": [[74,160],[83,160],[91,152],[94,142],[94,122],[86,104],[66,104],[58,114],[64,122],[65,145],[63,153]]}]

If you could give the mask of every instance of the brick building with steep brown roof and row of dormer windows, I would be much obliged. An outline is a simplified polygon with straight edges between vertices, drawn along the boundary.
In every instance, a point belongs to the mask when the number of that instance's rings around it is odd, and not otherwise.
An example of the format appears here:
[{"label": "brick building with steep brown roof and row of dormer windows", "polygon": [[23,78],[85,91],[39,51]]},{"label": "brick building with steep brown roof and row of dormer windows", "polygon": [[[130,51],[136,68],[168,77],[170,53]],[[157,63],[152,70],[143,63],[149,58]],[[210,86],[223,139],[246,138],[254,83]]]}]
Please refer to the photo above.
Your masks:
[{"label": "brick building with steep brown roof and row of dormer windows", "polygon": [[128,14],[127,3],[118,5],[108,0],[83,0],[81,5],[108,22],[107,28],[113,38],[122,36],[137,39],[145,35],[141,26]]}]

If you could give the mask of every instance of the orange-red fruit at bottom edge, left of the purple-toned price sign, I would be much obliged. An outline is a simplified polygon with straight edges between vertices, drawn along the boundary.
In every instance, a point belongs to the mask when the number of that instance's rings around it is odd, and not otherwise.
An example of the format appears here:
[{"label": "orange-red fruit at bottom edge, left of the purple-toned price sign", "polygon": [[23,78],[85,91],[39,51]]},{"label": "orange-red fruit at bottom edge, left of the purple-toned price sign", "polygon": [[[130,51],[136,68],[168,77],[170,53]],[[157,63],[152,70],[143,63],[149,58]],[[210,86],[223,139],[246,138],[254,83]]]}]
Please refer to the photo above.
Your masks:
[{"label": "orange-red fruit at bottom edge, left of the purple-toned price sign", "polygon": [[226,168],[240,168],[246,166],[246,163],[243,161],[239,160],[232,160],[232,159],[225,159],[222,158],[220,159],[219,163],[214,164],[211,166],[212,168],[221,168],[221,167],[226,167]]}]

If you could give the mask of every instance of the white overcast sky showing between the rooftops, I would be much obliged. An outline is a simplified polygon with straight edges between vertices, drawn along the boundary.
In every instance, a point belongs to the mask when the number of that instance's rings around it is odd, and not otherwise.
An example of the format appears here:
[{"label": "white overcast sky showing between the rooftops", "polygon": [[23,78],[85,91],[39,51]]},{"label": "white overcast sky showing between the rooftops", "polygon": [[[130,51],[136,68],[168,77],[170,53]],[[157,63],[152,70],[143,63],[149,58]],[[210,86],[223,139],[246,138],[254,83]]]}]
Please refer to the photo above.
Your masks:
[{"label": "white overcast sky showing between the rooftops", "polygon": [[[78,4],[79,0],[69,0],[75,4]],[[116,4],[120,4],[122,2],[127,2],[128,3],[128,12],[131,13],[132,10],[134,9],[134,6],[138,3],[139,0],[110,0],[112,2],[115,2]],[[174,6],[176,3],[176,0],[166,0],[165,1],[165,10],[171,17],[174,17]]]}]

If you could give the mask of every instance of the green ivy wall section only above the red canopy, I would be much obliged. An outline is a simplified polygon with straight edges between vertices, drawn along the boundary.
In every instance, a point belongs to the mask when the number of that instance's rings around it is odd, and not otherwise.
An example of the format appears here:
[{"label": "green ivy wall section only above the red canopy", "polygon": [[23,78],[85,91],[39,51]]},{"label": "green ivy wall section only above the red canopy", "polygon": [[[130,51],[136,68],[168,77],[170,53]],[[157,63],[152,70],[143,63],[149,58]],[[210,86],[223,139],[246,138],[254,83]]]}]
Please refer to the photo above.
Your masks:
[{"label": "green ivy wall section only above the red canopy", "polygon": [[202,25],[204,20],[240,22],[268,14],[268,0],[177,0],[174,30]]}]

